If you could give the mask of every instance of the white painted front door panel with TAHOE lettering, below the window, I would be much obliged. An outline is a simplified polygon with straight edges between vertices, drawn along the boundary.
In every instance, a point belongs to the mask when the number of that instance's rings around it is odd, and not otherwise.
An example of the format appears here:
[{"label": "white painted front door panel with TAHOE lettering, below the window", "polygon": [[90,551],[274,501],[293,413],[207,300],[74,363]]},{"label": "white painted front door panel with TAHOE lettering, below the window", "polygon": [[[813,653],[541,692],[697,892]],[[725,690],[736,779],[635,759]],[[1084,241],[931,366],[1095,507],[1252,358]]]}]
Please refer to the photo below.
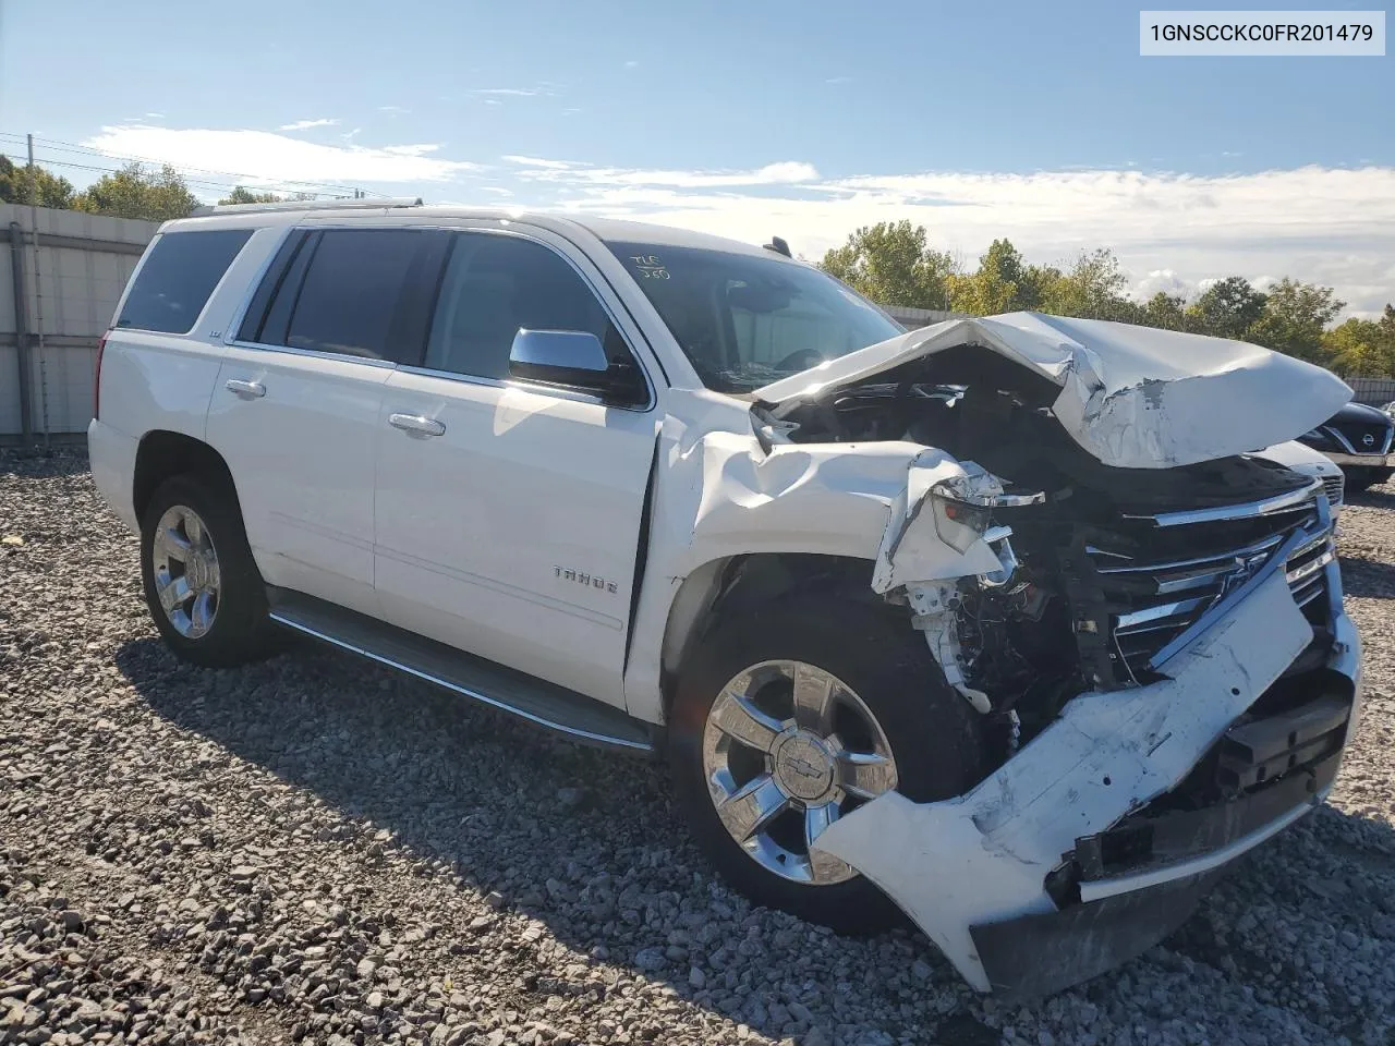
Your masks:
[{"label": "white painted front door panel with TAHOE lettering, below the window", "polygon": [[[407,435],[393,413],[445,432]],[[377,425],[382,616],[624,706],[656,424],[651,411],[393,372]]]}]

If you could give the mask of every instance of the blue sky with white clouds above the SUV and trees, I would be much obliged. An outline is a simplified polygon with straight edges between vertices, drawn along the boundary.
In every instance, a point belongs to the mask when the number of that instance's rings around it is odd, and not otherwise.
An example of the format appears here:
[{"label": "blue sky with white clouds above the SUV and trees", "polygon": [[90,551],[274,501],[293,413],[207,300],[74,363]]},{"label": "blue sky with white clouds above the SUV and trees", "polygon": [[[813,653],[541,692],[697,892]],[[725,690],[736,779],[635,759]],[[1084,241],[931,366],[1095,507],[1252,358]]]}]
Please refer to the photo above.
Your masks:
[{"label": "blue sky with white clouds above the SUV and trees", "polygon": [[71,142],[810,257],[904,216],[970,265],[1009,236],[1042,261],[1113,245],[1140,293],[1239,272],[1395,297],[1395,57],[1143,59],[1119,3],[4,0],[0,38],[0,132],[50,160],[93,160]]}]

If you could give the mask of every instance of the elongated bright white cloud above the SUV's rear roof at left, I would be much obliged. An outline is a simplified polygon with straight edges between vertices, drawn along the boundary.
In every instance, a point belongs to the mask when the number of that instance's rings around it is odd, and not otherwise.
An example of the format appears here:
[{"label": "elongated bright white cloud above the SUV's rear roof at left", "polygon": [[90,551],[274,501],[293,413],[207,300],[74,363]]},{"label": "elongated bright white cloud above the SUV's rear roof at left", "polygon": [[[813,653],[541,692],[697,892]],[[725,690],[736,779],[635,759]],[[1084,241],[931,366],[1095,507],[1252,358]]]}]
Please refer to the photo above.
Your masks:
[{"label": "elongated bright white cloud above the SUV's rear roof at left", "polygon": [[[352,134],[352,132],[350,132]],[[103,152],[148,156],[176,167],[205,172],[236,167],[234,174],[265,183],[412,183],[446,181],[478,165],[432,156],[437,145],[319,145],[271,131],[103,127],[82,142]]]}]

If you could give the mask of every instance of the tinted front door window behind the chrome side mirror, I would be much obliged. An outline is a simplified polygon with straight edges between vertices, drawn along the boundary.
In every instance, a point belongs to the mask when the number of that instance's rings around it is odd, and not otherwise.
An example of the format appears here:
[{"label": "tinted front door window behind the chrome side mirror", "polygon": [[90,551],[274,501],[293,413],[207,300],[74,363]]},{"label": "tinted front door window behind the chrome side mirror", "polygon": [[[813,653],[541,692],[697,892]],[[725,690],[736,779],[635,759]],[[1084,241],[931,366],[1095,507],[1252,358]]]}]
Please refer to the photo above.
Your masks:
[{"label": "tinted front door window behind the chrome side mirror", "polygon": [[557,252],[513,236],[456,234],[425,365],[506,378],[519,328],[589,331],[601,339],[611,360],[631,358],[591,289]]}]

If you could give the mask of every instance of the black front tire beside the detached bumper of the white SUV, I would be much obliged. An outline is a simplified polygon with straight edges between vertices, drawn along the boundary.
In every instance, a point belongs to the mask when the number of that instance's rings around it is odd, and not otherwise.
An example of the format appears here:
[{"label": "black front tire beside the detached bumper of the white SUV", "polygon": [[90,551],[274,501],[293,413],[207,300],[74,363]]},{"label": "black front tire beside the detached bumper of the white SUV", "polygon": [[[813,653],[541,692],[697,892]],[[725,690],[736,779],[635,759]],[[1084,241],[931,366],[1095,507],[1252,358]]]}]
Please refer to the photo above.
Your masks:
[{"label": "black front tire beside the detached bumper of the white SUV", "polygon": [[[840,933],[901,925],[896,905],[852,869],[843,866],[851,877],[841,881],[791,881],[770,870],[769,861],[752,856],[717,813],[704,764],[709,713],[718,696],[727,700],[723,690],[745,669],[783,658],[830,674],[861,700],[890,745],[896,789],[915,802],[961,795],[988,773],[982,717],[944,681],[904,611],[852,594],[801,594],[724,621],[679,675],[668,734],[675,794],[699,848],[721,876],[757,904]],[[788,722],[787,729],[792,729]],[[778,768],[778,761],[767,766]]]}]

